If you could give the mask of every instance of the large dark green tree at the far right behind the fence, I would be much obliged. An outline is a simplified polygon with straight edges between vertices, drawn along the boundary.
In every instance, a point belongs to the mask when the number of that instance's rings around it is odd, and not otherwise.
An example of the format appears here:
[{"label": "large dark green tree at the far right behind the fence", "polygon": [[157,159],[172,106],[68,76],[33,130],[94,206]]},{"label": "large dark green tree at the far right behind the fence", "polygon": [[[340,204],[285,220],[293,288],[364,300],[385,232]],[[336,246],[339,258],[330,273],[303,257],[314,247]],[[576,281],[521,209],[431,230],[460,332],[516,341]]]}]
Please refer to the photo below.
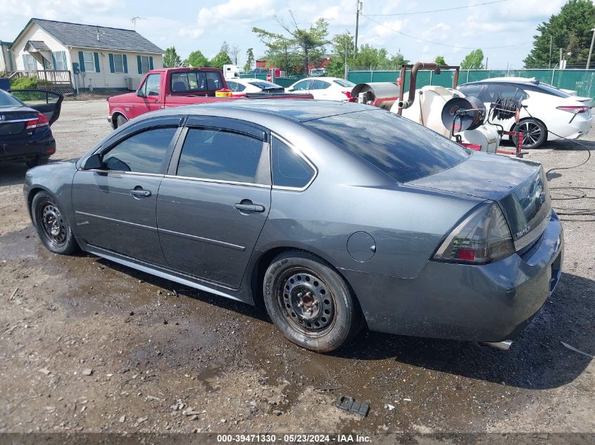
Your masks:
[{"label": "large dark green tree at the far right behind the fence", "polygon": [[587,63],[591,46],[591,31],[595,27],[595,6],[590,0],[569,0],[558,14],[547,22],[537,25],[537,35],[533,36],[533,48],[523,60],[525,68],[549,65],[550,41],[552,65],[558,63],[559,49],[565,54],[568,63]]}]

